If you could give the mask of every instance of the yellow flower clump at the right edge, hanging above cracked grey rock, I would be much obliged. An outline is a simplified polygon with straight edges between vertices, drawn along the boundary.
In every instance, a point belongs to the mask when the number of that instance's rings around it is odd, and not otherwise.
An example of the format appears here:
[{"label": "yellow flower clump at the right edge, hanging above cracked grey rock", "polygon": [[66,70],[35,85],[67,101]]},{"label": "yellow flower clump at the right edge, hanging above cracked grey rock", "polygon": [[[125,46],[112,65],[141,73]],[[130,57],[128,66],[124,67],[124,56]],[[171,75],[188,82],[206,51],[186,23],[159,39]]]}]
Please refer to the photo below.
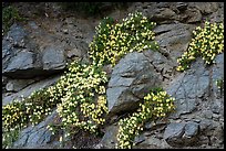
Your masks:
[{"label": "yellow flower clump at the right edge, hanging above cracked grey rock", "polygon": [[193,31],[194,39],[188,45],[187,52],[185,52],[181,58],[177,58],[177,71],[185,71],[189,68],[189,64],[201,56],[206,64],[212,64],[217,54],[224,51],[224,24],[205,22],[205,26],[202,29],[197,26]]}]

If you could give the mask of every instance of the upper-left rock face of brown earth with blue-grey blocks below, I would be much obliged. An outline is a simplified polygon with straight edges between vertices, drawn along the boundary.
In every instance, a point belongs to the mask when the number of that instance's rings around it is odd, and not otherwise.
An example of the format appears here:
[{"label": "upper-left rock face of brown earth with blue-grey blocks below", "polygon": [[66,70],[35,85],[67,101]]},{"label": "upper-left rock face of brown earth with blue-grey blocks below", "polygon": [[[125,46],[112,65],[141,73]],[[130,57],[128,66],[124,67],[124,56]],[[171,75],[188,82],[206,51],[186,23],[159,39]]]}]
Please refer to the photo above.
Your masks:
[{"label": "upper-left rock face of brown earth with blue-grey blocks below", "polygon": [[13,24],[2,40],[2,74],[11,78],[49,76],[62,72],[72,60],[86,60],[94,26],[83,20],[73,22],[68,18],[64,24],[53,23],[48,26],[51,32],[34,21],[27,26]]}]

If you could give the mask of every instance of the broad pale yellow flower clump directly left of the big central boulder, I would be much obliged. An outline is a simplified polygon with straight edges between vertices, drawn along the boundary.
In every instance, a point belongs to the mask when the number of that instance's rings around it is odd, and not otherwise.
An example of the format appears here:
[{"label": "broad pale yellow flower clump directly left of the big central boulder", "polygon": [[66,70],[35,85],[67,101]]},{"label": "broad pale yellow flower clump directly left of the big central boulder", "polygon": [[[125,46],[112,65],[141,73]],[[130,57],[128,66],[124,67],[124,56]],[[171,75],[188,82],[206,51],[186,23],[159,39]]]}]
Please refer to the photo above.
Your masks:
[{"label": "broad pale yellow flower clump directly left of the big central boulder", "polygon": [[[96,65],[73,62],[69,73],[58,83],[61,104],[56,111],[62,119],[62,129],[70,136],[74,128],[96,132],[107,112],[105,84],[106,73]],[[52,128],[52,127],[50,127]]]}]

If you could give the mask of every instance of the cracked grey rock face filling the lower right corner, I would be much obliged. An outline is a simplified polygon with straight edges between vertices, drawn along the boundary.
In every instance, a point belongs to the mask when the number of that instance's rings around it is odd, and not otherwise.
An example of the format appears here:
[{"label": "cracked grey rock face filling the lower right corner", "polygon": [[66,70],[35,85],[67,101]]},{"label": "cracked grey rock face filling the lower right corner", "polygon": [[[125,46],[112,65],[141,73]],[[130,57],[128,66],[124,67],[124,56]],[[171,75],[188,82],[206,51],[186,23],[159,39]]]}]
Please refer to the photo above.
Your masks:
[{"label": "cracked grey rock face filling the lower right corner", "polygon": [[[224,95],[219,94],[215,84],[216,79],[224,77],[223,57],[224,53],[217,55],[216,64],[208,67],[197,58],[191,69],[178,75],[166,86],[166,91],[176,98],[176,111],[168,117],[171,122],[165,123],[165,129],[151,129],[150,132],[153,137],[162,136],[157,141],[163,145],[147,142],[147,138],[135,148],[223,147],[224,139],[220,132],[224,130]],[[146,128],[152,126],[147,125]]]}]

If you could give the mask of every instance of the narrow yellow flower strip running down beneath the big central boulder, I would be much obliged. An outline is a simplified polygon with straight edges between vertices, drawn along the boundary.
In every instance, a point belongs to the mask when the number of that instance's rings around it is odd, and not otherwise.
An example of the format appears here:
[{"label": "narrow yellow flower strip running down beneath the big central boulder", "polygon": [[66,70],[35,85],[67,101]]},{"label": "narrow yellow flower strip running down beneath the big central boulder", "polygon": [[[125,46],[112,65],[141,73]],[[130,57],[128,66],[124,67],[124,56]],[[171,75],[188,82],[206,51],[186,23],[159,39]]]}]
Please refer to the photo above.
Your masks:
[{"label": "narrow yellow flower strip running down beneath the big central boulder", "polygon": [[165,117],[174,110],[174,98],[162,89],[153,89],[144,97],[144,103],[132,116],[119,121],[119,133],[116,148],[131,149],[134,145],[134,138],[144,127],[144,123],[152,119],[156,120]]}]

